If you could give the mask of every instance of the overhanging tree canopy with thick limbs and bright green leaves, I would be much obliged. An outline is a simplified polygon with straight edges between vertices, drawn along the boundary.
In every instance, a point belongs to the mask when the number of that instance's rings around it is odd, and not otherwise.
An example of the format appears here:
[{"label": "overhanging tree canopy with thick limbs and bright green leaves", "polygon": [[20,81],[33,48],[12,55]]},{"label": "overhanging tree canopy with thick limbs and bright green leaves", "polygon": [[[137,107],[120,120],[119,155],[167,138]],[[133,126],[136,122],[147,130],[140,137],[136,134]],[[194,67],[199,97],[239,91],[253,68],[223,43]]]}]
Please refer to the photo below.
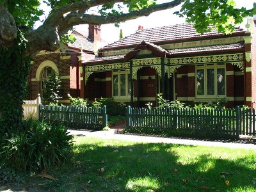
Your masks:
[{"label": "overhanging tree canopy with thick limbs and bright green leaves", "polygon": [[[17,29],[22,29],[28,40],[28,54],[41,50],[58,49],[60,37],[77,24],[109,24],[136,19],[152,12],[166,10],[182,4],[177,12],[180,17],[187,17],[188,22],[195,22],[199,33],[209,31],[209,26],[216,26],[218,31],[230,33],[234,25],[243,22],[246,16],[255,14],[256,3],[251,10],[235,8],[233,0],[173,0],[157,4],[156,0],[48,0],[51,13],[42,26],[33,29],[39,16],[39,0],[0,0],[0,45],[10,46],[17,38]],[[88,10],[98,7],[99,14],[89,14]],[[124,12],[128,10],[127,12]]]}]

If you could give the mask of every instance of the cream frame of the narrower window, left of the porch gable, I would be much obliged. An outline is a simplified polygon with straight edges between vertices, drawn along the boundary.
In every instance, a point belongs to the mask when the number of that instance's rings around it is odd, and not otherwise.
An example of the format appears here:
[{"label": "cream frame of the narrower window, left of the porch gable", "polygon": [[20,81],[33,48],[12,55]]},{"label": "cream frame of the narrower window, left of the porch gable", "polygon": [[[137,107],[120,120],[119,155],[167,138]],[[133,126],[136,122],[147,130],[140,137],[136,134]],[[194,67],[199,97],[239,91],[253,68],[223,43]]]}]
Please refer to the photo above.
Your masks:
[{"label": "cream frame of the narrower window, left of the porch gable", "polygon": [[[120,96],[120,75],[125,74],[125,96]],[[118,96],[114,96],[114,75],[118,75]],[[112,72],[112,97],[114,99],[127,99],[130,98],[131,95],[128,95],[128,84],[129,84],[129,71],[128,70],[118,70]]]}]

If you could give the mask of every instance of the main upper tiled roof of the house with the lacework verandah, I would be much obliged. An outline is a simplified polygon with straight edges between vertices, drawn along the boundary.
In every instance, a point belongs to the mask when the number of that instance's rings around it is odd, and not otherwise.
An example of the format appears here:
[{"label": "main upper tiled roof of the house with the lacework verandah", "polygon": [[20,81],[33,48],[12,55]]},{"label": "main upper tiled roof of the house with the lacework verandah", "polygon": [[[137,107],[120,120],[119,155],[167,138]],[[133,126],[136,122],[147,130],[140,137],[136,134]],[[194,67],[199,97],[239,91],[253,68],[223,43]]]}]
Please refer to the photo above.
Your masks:
[{"label": "main upper tiled roof of the house with the lacework verandah", "polygon": [[[244,32],[241,28],[236,28],[235,32]],[[117,47],[125,47],[129,45],[140,44],[145,42],[166,42],[173,40],[184,40],[186,38],[200,38],[204,36],[221,35],[216,29],[211,32],[200,34],[193,28],[193,23],[176,24],[173,26],[164,26],[159,28],[142,29],[136,33],[122,38],[113,44],[109,44],[103,49],[112,49]]]}]

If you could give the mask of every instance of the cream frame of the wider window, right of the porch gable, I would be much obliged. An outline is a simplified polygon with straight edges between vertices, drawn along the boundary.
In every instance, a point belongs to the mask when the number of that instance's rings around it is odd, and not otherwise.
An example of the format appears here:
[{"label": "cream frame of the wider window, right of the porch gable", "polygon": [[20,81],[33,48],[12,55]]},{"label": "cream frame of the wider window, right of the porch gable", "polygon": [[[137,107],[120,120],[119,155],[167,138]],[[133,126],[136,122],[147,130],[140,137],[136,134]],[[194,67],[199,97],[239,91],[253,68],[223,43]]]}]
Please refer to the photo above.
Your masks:
[{"label": "cream frame of the wider window, right of the porch gable", "polygon": [[[227,71],[226,71],[226,64],[220,65],[222,63],[214,63],[213,65],[204,64],[203,66],[195,66],[195,97],[196,98],[216,98],[216,97],[227,97]],[[214,95],[207,95],[207,69],[214,68],[215,78],[214,78]],[[224,68],[224,76],[225,76],[225,95],[218,95],[218,87],[217,87],[217,69]],[[197,70],[204,69],[204,95],[197,95]]]}]

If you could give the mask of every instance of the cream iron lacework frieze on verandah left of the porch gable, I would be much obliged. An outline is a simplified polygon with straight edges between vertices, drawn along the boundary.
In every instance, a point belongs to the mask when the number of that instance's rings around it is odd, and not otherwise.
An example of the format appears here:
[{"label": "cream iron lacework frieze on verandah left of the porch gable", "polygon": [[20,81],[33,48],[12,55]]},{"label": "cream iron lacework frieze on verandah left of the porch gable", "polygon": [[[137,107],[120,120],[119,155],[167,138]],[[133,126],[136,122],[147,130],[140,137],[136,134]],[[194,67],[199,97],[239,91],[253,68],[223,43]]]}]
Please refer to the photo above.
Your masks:
[{"label": "cream iron lacework frieze on verandah left of the porch gable", "polygon": [[130,67],[130,63],[113,63],[106,65],[85,66],[85,72],[101,72],[106,70],[120,70]]}]

